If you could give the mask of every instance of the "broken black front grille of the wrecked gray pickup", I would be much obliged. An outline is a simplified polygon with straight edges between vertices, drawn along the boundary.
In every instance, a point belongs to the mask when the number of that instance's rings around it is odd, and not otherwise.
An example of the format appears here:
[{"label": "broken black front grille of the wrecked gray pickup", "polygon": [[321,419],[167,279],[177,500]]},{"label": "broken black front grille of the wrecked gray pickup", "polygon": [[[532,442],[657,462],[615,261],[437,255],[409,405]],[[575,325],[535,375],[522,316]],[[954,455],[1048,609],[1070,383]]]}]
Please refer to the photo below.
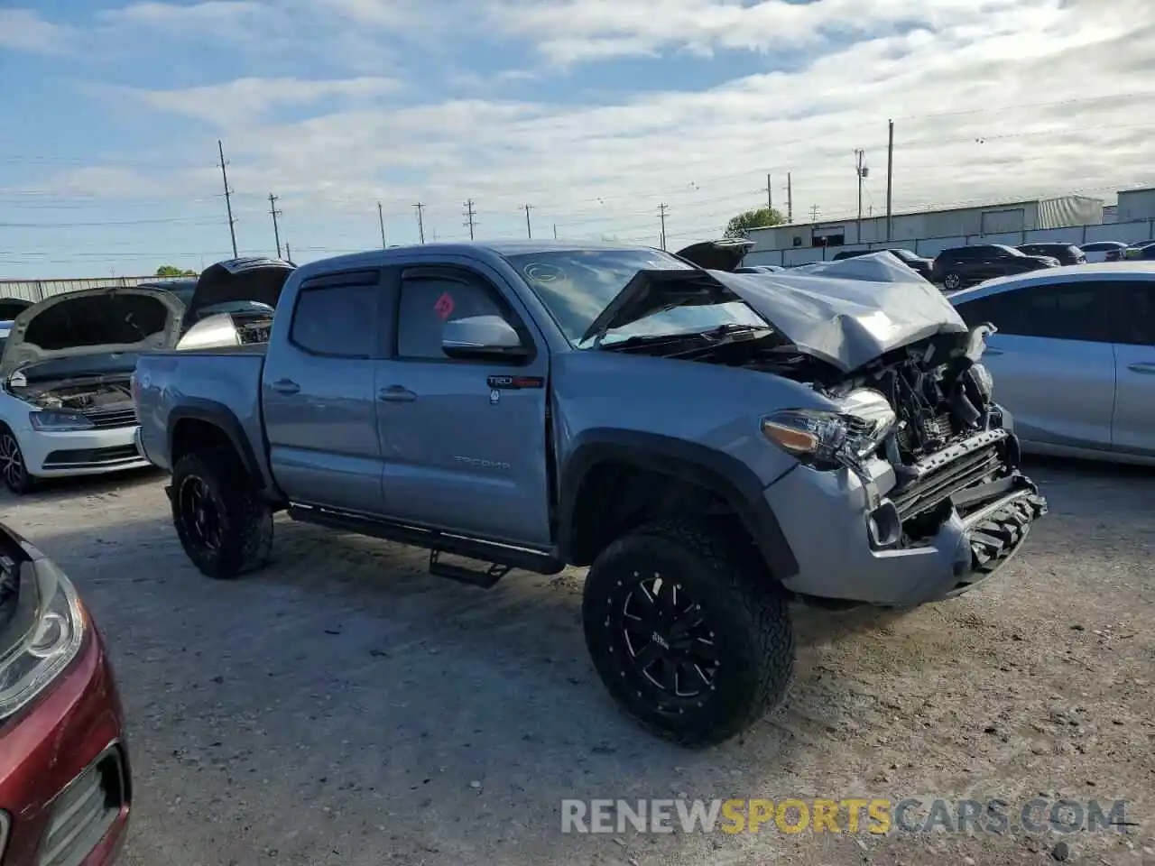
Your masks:
[{"label": "broken black front grille of the wrecked gray pickup", "polygon": [[907,522],[933,512],[959,491],[1001,470],[1005,431],[981,433],[915,464],[915,477],[891,493],[899,518]]}]

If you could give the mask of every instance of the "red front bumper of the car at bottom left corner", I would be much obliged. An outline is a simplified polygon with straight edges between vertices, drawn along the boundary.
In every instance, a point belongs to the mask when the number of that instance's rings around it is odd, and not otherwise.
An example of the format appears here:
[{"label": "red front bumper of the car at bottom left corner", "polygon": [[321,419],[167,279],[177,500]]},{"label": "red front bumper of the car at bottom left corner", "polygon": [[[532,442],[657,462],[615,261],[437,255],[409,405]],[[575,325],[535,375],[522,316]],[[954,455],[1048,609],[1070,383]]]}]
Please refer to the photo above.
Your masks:
[{"label": "red front bumper of the car at bottom left corner", "polygon": [[[89,620],[91,624],[91,620]],[[124,715],[95,625],[31,708],[0,726],[3,866],[110,866],[132,801]]]}]

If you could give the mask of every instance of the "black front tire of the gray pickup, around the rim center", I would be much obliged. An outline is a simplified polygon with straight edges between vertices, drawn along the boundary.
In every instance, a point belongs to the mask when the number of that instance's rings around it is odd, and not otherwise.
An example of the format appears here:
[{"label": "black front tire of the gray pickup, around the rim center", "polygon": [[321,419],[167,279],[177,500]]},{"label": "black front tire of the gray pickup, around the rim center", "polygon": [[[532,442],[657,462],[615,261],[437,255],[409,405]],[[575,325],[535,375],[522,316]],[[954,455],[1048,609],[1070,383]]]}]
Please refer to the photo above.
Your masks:
[{"label": "black front tire of the gray pickup, around the rim center", "polygon": [[[617,626],[631,587],[655,575],[683,587],[715,635],[720,664],[703,702],[686,706],[653,688]],[[725,528],[663,521],[617,539],[589,569],[582,619],[594,666],[613,699],[679,745],[713,746],[737,736],[790,688],[795,644],[785,593],[748,540]]]}]

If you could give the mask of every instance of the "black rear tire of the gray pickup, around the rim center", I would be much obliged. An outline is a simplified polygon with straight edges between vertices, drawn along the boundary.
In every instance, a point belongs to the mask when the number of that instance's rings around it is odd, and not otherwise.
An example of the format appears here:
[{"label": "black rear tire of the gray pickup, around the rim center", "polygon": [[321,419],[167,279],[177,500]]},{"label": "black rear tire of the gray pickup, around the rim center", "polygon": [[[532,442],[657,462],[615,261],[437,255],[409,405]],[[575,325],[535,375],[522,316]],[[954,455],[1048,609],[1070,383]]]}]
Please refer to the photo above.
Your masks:
[{"label": "black rear tire of the gray pickup, around the rim center", "polygon": [[[217,509],[219,545],[198,544],[191,515],[182,514],[181,490],[193,479],[202,483]],[[208,577],[232,580],[269,561],[273,550],[273,510],[259,495],[240,460],[230,450],[193,451],[172,471],[172,523],[180,546]]]}]

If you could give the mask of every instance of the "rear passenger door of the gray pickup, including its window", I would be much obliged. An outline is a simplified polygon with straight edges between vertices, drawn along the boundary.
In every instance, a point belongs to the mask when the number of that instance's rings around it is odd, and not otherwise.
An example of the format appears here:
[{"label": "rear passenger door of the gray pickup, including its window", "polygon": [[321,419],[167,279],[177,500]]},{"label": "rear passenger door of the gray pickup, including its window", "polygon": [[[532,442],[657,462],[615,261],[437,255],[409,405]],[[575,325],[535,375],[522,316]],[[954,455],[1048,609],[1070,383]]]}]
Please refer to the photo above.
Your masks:
[{"label": "rear passenger door of the gray pickup, including its window", "polygon": [[381,507],[373,358],[380,286],[377,273],[371,278],[303,286],[289,339],[266,361],[269,463],[293,501],[367,513]]}]

